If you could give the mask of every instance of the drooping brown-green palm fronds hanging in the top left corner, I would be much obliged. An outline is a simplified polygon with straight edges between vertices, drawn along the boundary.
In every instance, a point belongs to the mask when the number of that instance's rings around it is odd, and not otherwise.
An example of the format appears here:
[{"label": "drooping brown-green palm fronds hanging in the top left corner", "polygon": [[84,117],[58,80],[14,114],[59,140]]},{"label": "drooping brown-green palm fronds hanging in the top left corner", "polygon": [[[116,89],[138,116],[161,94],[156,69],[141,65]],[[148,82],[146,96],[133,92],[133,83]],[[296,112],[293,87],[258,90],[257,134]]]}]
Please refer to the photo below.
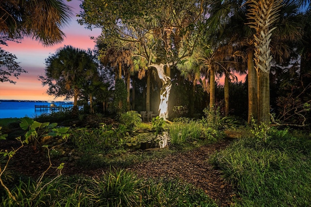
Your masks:
[{"label": "drooping brown-green palm fronds hanging in the top left corner", "polygon": [[0,33],[13,39],[31,36],[44,45],[60,43],[65,36],[60,28],[70,15],[61,0],[1,0]]}]

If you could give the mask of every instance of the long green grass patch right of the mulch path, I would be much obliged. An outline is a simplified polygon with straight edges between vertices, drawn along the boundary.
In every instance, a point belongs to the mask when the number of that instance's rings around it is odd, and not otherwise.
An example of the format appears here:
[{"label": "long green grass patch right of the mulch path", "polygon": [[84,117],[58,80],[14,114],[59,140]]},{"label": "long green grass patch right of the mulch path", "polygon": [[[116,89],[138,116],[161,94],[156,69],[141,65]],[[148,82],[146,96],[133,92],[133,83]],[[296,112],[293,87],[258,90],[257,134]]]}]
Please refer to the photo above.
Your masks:
[{"label": "long green grass patch right of the mulch path", "polygon": [[242,138],[210,161],[237,189],[238,206],[310,206],[310,139],[287,130],[268,133],[268,140]]}]

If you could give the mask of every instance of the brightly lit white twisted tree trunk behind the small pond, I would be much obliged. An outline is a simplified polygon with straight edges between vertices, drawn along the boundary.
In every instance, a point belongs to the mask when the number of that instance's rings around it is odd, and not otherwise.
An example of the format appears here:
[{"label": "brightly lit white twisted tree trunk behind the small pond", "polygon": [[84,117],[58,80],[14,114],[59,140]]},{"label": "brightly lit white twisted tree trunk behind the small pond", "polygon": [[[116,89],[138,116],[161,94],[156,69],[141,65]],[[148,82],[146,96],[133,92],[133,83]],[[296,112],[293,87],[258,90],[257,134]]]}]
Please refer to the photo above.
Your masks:
[{"label": "brightly lit white twisted tree trunk behind the small pond", "polygon": [[169,96],[171,92],[171,77],[167,76],[164,72],[164,64],[150,64],[151,67],[155,67],[157,75],[162,82],[162,88],[160,91],[160,105],[159,105],[159,117],[165,121],[169,118]]}]

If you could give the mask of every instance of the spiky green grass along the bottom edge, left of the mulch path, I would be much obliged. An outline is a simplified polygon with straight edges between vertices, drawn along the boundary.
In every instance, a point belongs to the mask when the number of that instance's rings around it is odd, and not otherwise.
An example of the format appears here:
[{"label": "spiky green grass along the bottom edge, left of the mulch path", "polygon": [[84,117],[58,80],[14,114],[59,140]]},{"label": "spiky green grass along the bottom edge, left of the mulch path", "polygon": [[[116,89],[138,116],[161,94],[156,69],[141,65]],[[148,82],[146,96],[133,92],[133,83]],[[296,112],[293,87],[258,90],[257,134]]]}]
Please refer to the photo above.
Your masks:
[{"label": "spiky green grass along the bottom edge, left of the mulch path", "polygon": [[44,189],[35,198],[36,182],[19,180],[12,193],[17,202],[1,195],[1,206],[42,207],[217,207],[202,191],[173,178],[138,178],[132,172],[112,169],[94,179],[86,176],[61,176],[43,181]]}]

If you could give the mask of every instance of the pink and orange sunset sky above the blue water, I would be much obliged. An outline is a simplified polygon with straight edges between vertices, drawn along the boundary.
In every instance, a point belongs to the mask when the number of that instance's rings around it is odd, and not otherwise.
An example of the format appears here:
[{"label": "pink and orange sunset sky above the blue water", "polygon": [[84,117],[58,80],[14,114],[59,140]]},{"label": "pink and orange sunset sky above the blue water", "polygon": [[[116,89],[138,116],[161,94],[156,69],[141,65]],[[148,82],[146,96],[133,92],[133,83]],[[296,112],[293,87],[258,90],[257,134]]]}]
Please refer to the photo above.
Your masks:
[{"label": "pink and orange sunset sky above the blue water", "polygon": [[64,97],[55,99],[54,96],[47,95],[48,86],[43,87],[41,81],[38,80],[38,76],[44,75],[45,73],[45,59],[49,55],[54,54],[58,48],[62,48],[65,45],[71,45],[81,49],[93,49],[95,43],[90,37],[97,37],[101,33],[100,29],[90,31],[77,22],[78,17],[76,15],[81,10],[79,6],[81,3],[80,0],[71,0],[69,2],[64,0],[64,2],[72,7],[73,15],[69,25],[62,28],[62,31],[66,34],[62,43],[53,45],[52,47],[46,47],[32,38],[24,38],[21,40],[21,43],[8,41],[8,47],[0,45],[4,50],[16,55],[16,62],[28,71],[28,73],[22,73],[18,76],[18,79],[10,77],[11,80],[16,81],[16,84],[0,82],[0,100],[64,100]]}]

